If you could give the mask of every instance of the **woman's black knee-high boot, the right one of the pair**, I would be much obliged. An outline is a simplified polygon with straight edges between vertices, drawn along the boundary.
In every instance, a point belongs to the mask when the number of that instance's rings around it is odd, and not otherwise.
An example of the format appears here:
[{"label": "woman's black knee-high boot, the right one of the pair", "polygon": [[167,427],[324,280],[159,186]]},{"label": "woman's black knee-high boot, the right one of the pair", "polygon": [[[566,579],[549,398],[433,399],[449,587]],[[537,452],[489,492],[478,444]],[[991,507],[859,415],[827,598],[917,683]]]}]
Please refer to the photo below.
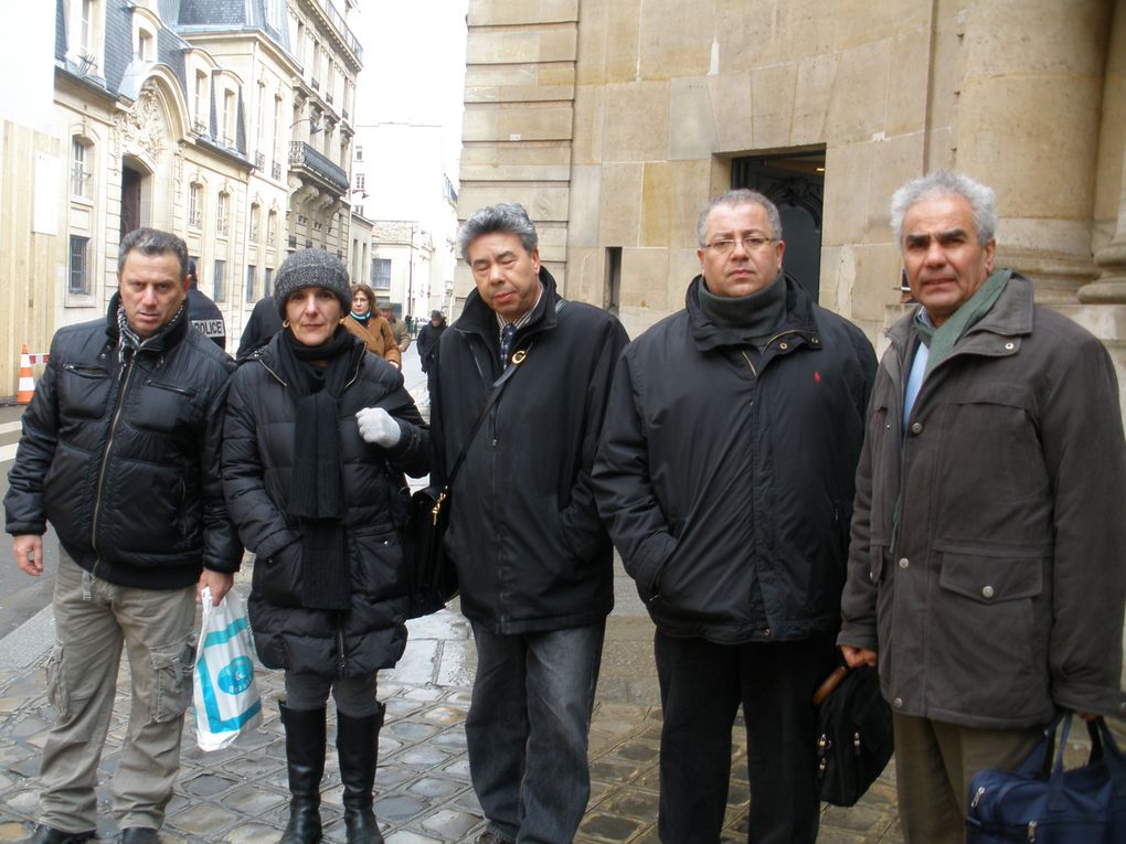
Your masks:
[{"label": "woman's black knee-high boot, the right one of the pair", "polygon": [[386,708],[360,718],[337,710],[337,753],[343,783],[345,829],[348,844],[383,844],[375,820],[375,765],[379,756],[379,728]]}]

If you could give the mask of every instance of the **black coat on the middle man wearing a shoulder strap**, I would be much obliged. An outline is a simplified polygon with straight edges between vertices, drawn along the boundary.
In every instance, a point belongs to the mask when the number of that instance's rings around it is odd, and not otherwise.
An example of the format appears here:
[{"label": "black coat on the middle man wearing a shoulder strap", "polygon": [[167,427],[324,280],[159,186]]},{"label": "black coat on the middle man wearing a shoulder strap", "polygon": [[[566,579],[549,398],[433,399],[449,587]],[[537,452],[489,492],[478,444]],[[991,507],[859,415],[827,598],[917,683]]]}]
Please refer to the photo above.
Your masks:
[{"label": "black coat on the middle man wearing a shoulder strap", "polygon": [[[527,358],[454,479],[446,549],[462,611],[498,634],[595,623],[614,607],[613,548],[590,490],[610,379],[626,344],[605,311],[544,294],[515,338]],[[443,334],[431,404],[439,479],[500,376],[495,314],[477,293]]]}]

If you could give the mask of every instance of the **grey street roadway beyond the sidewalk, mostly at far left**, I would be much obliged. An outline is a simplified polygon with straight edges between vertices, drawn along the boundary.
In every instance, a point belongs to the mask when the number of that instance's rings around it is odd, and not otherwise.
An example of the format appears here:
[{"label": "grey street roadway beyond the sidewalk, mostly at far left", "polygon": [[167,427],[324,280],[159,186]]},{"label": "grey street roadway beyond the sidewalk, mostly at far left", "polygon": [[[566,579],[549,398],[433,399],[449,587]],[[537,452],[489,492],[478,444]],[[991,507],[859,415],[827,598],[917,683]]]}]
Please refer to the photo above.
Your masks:
[{"label": "grey street roadway beyond the sidewalk, mostly at far left", "polygon": [[[36,367],[36,376],[42,367]],[[429,416],[426,401],[426,375],[419,362],[418,347],[411,343],[403,354],[403,379],[418,399],[423,416]],[[0,405],[0,496],[8,492],[8,472],[16,457],[19,441],[23,405]],[[11,541],[7,535],[0,537],[0,638],[23,625],[51,602],[54,589],[54,572],[59,566],[59,540],[54,531],[47,531],[43,542],[44,573],[39,577],[24,574],[16,567],[11,555]]]}]

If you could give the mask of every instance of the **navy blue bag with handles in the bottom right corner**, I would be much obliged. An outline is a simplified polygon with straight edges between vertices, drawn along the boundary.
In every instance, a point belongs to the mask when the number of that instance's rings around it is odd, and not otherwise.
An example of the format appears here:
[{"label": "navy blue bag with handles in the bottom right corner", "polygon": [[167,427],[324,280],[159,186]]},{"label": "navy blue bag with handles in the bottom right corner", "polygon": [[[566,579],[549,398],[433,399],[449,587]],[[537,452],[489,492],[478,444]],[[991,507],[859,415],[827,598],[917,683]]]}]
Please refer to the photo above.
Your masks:
[{"label": "navy blue bag with handles in the bottom right corner", "polygon": [[[1126,841],[1126,757],[1101,718],[1087,722],[1091,754],[1063,770],[1071,712],[1056,716],[1016,771],[978,771],[969,784],[967,844],[1121,844]],[[1052,764],[1056,728],[1060,752]],[[1049,766],[1051,765],[1051,770]]]}]

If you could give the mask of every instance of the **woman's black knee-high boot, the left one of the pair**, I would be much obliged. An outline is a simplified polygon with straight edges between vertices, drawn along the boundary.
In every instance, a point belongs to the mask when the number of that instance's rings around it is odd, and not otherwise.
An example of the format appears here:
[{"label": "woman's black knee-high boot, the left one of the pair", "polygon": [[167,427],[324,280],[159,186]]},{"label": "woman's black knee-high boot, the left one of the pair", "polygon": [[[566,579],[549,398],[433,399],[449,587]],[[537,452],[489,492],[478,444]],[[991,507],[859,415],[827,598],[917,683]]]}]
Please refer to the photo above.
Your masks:
[{"label": "woman's black knee-high boot, the left one of the pair", "polygon": [[324,774],[324,707],[289,709],[278,701],[285,725],[289,771],[289,823],[278,844],[318,844],[321,839],[321,776]]}]

